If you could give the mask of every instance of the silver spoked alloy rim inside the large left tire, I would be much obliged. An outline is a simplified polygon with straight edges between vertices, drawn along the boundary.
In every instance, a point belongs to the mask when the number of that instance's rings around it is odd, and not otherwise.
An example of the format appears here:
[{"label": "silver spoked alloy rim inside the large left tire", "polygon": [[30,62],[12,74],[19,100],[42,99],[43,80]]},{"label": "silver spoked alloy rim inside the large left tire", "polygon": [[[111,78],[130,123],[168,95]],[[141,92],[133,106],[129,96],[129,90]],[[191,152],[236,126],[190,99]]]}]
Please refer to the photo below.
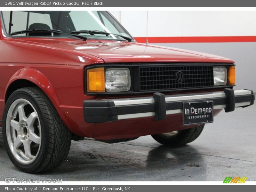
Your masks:
[{"label": "silver spoked alloy rim inside the large left tire", "polygon": [[28,100],[17,99],[12,103],[6,133],[13,156],[23,164],[31,163],[40,149],[41,128],[36,110]]}]

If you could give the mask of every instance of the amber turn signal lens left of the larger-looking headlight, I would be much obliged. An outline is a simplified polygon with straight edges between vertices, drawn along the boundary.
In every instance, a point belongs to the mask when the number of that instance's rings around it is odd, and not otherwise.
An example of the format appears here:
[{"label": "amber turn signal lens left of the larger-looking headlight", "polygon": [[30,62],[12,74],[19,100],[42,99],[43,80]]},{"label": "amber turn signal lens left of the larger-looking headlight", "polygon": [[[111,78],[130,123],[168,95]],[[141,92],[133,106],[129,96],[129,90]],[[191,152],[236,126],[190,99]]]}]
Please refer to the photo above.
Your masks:
[{"label": "amber turn signal lens left of the larger-looking headlight", "polygon": [[92,68],[86,72],[87,92],[105,92],[104,68]]}]

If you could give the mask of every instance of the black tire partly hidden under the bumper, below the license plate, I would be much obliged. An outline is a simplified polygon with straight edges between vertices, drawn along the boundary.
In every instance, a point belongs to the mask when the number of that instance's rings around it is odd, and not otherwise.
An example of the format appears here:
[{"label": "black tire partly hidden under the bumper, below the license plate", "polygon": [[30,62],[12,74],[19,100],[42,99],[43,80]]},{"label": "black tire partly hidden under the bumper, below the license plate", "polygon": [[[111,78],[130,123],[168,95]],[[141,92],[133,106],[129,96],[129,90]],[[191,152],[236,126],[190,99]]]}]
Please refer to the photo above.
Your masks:
[{"label": "black tire partly hidden under the bumper, below the license plate", "polygon": [[180,130],[176,135],[167,137],[162,134],[151,135],[157,142],[165,146],[180,146],[190,143],[201,134],[204,124],[197,127]]}]

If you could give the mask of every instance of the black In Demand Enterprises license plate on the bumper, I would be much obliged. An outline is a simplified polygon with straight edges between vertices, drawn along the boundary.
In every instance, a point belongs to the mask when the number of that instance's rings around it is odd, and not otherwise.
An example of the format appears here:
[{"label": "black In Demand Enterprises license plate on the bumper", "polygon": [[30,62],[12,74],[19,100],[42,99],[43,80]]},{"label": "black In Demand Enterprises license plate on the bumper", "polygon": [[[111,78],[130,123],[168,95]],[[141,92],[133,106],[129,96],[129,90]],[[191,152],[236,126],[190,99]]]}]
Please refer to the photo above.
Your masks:
[{"label": "black In Demand Enterprises license plate on the bumper", "polygon": [[183,125],[212,122],[213,101],[183,102]]}]

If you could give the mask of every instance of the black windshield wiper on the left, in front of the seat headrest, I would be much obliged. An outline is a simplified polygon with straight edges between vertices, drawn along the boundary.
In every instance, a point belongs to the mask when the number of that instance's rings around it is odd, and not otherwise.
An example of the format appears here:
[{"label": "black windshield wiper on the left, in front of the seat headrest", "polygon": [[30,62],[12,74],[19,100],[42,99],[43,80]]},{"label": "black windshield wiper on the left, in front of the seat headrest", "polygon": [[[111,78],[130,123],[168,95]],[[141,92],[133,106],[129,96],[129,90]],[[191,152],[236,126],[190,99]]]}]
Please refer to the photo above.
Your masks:
[{"label": "black windshield wiper on the left, in front of the seat headrest", "polygon": [[74,36],[74,37],[83,39],[83,41],[87,40],[86,36],[76,35],[76,34],[71,34],[71,33],[63,33],[60,30],[55,30],[55,29],[52,29],[52,30],[49,30],[49,29],[28,29],[28,30],[16,31],[16,32],[11,33],[10,35],[12,36],[12,35],[19,35],[19,34],[24,34],[24,33],[49,33],[49,32],[55,33],[55,34],[58,33],[58,34]]}]

